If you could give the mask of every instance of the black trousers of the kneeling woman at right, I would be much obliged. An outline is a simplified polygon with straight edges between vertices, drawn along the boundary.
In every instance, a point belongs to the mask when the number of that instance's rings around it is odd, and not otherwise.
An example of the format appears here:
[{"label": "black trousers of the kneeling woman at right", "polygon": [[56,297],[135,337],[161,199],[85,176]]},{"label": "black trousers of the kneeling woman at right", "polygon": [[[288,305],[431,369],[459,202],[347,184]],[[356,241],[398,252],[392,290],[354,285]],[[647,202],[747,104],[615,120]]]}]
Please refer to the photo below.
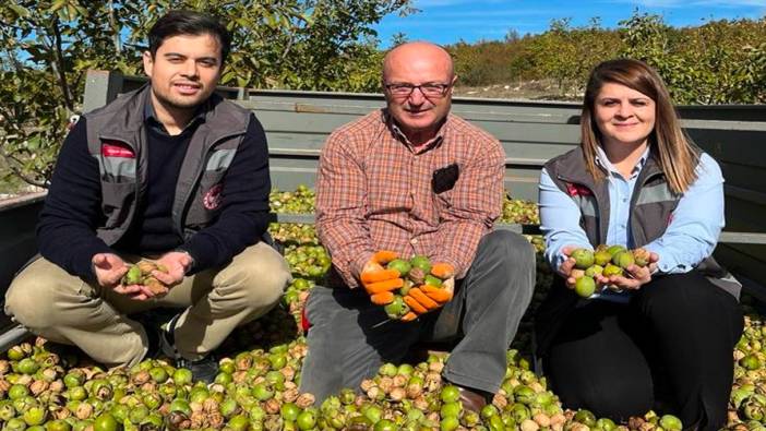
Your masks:
[{"label": "black trousers of the kneeling woman at right", "polygon": [[[555,325],[542,335],[543,370],[565,407],[625,420],[649,409],[684,428],[718,430],[727,420],[732,349],[743,330],[733,296],[697,272],[659,276],[629,303],[573,301],[554,286],[541,304]],[[562,312],[562,304],[572,307]]]}]

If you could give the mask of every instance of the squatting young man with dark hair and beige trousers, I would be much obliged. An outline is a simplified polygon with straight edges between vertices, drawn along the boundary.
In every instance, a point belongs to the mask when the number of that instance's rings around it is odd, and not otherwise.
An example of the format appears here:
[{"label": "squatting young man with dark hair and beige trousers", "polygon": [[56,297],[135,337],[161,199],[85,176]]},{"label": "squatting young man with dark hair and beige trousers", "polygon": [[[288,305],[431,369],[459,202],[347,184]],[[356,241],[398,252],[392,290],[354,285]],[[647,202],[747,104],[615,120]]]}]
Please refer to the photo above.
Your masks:
[{"label": "squatting young man with dark hair and beige trousers", "polygon": [[[153,350],[212,381],[210,355],[266,313],[290,273],[261,238],[268,152],[249,111],[214,94],[230,36],[212,16],[172,11],[153,26],[151,83],[85,113],[63,143],[37,229],[41,254],[12,283],[5,312],[109,367]],[[165,296],[122,283],[128,264]],[[157,333],[127,315],[179,309]]]}]

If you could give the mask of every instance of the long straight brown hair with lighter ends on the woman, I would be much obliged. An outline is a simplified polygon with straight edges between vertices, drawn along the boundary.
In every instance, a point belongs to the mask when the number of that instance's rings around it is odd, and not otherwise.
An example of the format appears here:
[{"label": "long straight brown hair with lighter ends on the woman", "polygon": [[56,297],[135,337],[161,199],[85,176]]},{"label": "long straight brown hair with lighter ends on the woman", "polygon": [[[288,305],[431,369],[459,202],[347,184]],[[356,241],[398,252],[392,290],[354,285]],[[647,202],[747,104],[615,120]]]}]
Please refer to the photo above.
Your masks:
[{"label": "long straight brown hair with lighter ends on the woman", "polygon": [[675,193],[683,193],[696,180],[695,168],[699,155],[692,140],[681,129],[678,113],[662,79],[649,65],[638,60],[618,59],[598,64],[588,79],[581,119],[582,147],[585,164],[596,180],[605,177],[596,166],[596,147],[601,132],[596,125],[596,98],[607,83],[624,85],[655,101],[655,129],[649,134],[649,146]]}]

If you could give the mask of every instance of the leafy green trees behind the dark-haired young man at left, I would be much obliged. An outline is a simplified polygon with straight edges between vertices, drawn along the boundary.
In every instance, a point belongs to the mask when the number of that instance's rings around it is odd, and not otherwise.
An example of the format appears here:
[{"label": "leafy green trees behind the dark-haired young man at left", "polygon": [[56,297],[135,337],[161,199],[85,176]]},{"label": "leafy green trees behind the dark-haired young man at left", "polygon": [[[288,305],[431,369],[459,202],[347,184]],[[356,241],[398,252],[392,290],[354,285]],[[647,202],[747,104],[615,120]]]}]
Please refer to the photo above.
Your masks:
[{"label": "leafy green trees behind the dark-haired young man at left", "polygon": [[381,53],[371,28],[409,0],[8,0],[0,4],[0,156],[46,187],[80,112],[88,69],[141,74],[146,34],[171,9],[214,13],[232,32],[222,84],[372,92]]}]

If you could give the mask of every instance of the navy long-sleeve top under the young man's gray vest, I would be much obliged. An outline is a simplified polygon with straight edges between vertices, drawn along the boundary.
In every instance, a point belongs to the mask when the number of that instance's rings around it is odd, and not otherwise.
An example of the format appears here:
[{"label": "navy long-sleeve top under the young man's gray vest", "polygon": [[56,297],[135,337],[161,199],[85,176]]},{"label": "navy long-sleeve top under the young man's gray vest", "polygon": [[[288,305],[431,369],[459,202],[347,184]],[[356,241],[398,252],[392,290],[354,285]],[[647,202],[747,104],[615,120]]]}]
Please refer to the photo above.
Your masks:
[{"label": "navy long-sleeve top under the young man's gray vest", "polygon": [[188,251],[195,262],[193,272],[199,272],[225,264],[266,230],[268,148],[263,128],[251,116],[224,177],[218,217],[185,242],[172,229],[170,213],[181,161],[195,127],[176,136],[147,128],[146,191],[125,236],[108,247],[95,234],[103,226],[104,215],[98,160],[88,153],[85,121],[81,118],[64,140],[37,226],[41,255],[70,274],[93,278],[91,261],[97,253],[161,253],[173,249]]}]

